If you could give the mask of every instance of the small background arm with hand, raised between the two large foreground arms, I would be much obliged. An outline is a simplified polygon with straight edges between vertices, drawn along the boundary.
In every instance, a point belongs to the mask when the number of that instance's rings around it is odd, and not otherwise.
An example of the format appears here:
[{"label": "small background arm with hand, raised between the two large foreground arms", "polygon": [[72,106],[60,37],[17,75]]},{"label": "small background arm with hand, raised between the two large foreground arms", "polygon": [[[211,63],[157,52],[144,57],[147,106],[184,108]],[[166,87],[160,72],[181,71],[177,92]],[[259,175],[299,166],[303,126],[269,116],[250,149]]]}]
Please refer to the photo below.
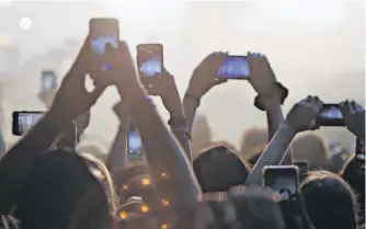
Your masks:
[{"label": "small background arm with hand, raised between the two large foreground arms", "polygon": [[123,101],[115,104],[113,111],[119,118],[119,127],[105,163],[112,173],[116,173],[121,167],[126,165],[129,112],[128,105]]}]

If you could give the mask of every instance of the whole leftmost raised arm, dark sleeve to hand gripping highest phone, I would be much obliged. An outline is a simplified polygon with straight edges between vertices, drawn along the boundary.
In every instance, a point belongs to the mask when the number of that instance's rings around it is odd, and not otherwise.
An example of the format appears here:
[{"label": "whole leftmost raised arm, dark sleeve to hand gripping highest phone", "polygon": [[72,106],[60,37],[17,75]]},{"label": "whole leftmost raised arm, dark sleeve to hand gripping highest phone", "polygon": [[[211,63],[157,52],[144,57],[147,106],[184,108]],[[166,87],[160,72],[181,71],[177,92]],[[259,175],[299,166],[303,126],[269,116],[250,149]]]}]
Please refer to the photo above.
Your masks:
[{"label": "whole leftmost raised arm, dark sleeve to hand gripping highest phone", "polygon": [[14,206],[37,157],[53,145],[67,124],[88,112],[102,93],[103,88],[99,87],[91,93],[85,90],[85,44],[62,80],[48,113],[0,161],[0,215],[9,214]]}]

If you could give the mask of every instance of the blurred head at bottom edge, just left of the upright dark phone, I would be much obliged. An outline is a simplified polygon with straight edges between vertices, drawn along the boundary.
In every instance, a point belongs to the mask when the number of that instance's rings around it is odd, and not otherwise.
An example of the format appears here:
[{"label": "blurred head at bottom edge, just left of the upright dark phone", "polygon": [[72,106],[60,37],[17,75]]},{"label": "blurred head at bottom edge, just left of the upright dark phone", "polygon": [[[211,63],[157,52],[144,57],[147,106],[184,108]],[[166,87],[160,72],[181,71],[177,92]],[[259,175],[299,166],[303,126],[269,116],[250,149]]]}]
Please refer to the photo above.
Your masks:
[{"label": "blurred head at bottom edge, just left of the upright dark phone", "polygon": [[285,229],[281,208],[274,202],[271,190],[237,186],[230,191],[230,198],[237,209],[241,229]]}]

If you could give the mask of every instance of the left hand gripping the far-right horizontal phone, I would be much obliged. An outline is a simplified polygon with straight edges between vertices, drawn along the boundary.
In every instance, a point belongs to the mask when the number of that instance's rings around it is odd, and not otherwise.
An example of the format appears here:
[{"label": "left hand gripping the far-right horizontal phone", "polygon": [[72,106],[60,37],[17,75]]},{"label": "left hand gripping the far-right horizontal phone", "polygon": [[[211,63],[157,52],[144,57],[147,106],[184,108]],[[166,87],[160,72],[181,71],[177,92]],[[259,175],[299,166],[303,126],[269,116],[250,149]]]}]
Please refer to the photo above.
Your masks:
[{"label": "left hand gripping the far-right horizontal phone", "polygon": [[286,123],[296,131],[314,129],[314,119],[319,115],[323,102],[318,96],[307,96],[296,103],[288,112]]}]

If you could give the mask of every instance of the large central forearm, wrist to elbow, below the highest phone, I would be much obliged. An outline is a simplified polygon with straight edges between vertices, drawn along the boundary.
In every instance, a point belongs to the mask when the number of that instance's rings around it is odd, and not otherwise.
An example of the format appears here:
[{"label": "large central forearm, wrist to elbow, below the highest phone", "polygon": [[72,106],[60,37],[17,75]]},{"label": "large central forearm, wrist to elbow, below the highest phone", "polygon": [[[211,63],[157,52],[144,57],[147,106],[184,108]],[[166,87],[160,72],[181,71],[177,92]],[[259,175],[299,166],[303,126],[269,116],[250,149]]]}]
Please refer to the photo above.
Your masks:
[{"label": "large central forearm, wrist to elbow, below the highest phone", "polygon": [[146,158],[153,181],[161,174],[169,175],[169,188],[164,184],[157,188],[162,196],[172,196],[172,201],[194,202],[201,190],[191,170],[190,162],[175,138],[163,125],[155,105],[141,93],[131,107],[131,118],[139,130]]}]

